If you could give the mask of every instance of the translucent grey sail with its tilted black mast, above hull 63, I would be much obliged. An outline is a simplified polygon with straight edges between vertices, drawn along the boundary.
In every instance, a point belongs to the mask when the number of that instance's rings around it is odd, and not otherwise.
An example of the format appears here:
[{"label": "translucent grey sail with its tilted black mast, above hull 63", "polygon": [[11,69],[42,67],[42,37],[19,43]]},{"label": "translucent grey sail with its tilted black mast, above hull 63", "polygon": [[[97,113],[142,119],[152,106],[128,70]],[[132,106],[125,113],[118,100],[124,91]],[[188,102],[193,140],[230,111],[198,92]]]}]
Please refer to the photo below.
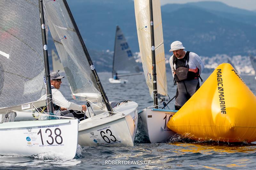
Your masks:
[{"label": "translucent grey sail with its tilted black mast, above hull 63", "polygon": [[45,1],[44,4],[73,99],[103,101],[108,111],[113,112],[67,1]]}]

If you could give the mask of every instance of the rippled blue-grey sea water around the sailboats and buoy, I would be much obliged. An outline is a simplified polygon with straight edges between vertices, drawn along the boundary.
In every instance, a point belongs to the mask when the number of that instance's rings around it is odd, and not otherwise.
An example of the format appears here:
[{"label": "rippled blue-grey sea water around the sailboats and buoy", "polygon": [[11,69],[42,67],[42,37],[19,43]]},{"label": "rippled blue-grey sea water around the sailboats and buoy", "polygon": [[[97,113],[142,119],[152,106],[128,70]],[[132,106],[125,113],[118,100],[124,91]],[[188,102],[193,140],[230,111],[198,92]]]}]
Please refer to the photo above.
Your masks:
[{"label": "rippled blue-grey sea water around the sailboats and buoy", "polygon": [[[132,100],[138,103],[138,110],[153,105],[144,74],[127,77],[127,84],[110,84],[110,76],[111,73],[99,73],[109,101]],[[208,76],[209,74],[202,74],[204,80]],[[255,76],[241,77],[255,94]],[[172,98],[175,96],[176,86],[173,86],[170,72],[167,72],[167,82],[168,94]],[[60,91],[68,100],[84,104],[72,100],[66,78],[62,79]],[[168,106],[174,109],[174,100]],[[218,144],[180,138],[161,144],[146,142],[137,133],[133,147],[78,145],[76,158],[72,160],[53,159],[55,155],[50,153],[30,157],[0,155],[0,169],[256,169],[255,144]]]}]

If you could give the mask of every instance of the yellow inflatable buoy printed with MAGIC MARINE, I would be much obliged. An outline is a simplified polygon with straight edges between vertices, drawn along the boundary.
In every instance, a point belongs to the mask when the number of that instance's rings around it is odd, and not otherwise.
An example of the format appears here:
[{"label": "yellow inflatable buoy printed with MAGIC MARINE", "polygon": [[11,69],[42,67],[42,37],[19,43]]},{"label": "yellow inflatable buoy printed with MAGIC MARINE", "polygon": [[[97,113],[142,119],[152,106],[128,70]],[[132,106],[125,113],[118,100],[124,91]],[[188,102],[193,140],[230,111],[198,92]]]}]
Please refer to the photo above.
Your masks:
[{"label": "yellow inflatable buoy printed with MAGIC MARINE", "polygon": [[256,97],[236,70],[220,64],[167,124],[185,137],[205,141],[256,141]]}]

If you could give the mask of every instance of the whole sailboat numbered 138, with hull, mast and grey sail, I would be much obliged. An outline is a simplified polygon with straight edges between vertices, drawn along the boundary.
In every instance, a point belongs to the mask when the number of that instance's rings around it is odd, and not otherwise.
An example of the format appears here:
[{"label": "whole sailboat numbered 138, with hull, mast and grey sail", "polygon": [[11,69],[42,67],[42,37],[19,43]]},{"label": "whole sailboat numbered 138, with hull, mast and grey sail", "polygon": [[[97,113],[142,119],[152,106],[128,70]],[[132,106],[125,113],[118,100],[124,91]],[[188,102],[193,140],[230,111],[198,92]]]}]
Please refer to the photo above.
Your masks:
[{"label": "whole sailboat numbered 138, with hull, mast and grey sail", "polygon": [[[42,0],[39,2],[0,1],[0,155],[47,153],[73,159],[78,120],[53,119],[49,116],[51,99],[36,101],[46,93],[44,83],[51,96],[50,78],[44,78],[49,75],[49,64]],[[35,111],[46,103],[48,114],[32,112],[40,120],[13,122],[19,112],[31,115],[27,110]]]}]

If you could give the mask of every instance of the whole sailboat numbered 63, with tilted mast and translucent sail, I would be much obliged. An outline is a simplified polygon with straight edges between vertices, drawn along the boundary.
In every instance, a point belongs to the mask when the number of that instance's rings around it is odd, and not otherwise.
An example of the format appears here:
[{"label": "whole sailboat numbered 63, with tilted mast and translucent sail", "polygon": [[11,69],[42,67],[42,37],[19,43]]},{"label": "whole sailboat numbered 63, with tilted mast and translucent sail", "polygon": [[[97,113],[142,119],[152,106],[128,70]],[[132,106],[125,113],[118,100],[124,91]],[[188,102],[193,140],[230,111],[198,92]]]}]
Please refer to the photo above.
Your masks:
[{"label": "whole sailboat numbered 63, with tilted mast and translucent sail", "polygon": [[[89,118],[78,124],[78,144],[133,146],[138,104],[112,102],[101,85],[91,57],[66,0],[45,3],[47,21],[74,100],[87,102]],[[97,106],[95,106],[95,103]],[[96,115],[94,108],[102,113]]]}]

